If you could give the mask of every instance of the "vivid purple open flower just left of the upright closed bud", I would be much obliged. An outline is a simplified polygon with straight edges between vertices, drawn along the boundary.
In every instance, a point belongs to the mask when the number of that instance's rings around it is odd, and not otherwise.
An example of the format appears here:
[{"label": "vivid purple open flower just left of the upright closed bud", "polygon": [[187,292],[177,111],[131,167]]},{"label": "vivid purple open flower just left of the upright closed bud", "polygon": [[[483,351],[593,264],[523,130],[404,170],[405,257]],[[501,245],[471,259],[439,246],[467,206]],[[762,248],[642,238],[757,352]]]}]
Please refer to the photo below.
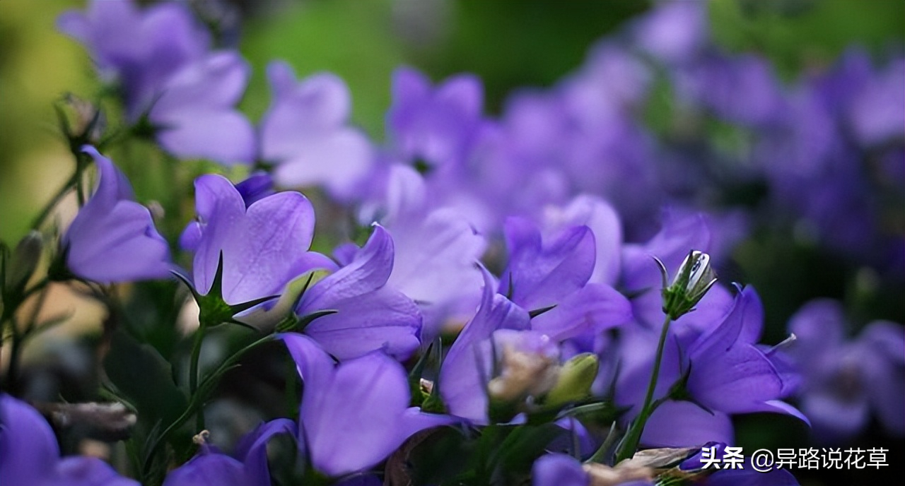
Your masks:
[{"label": "vivid purple open flower just left of the upright closed bud", "polygon": [[631,318],[628,300],[605,284],[588,283],[595,268],[595,236],[586,226],[564,229],[542,242],[529,220],[506,221],[510,262],[498,292],[534,316],[533,331],[562,341],[601,332]]}]

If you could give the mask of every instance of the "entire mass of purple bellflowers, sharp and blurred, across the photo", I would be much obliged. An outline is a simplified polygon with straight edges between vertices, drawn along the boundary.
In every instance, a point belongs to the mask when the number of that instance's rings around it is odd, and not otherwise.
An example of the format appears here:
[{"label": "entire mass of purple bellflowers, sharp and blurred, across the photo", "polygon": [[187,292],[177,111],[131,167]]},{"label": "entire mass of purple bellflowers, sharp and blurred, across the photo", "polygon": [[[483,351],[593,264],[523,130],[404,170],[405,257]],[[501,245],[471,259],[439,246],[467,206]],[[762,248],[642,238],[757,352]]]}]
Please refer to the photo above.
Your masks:
[{"label": "entire mass of purple bellflowers, sharp and blurred, across the photo", "polygon": [[[757,292],[704,273],[755,221],[712,204],[726,167],[689,170],[681,147],[659,143],[638,115],[665,68],[677,117],[706,114],[748,133],[744,154],[699,154],[746,159],[730,177],[768,183],[761,210],[791,207],[801,219],[792,223],[833,234],[838,249],[878,255],[903,241],[877,226],[862,186],[902,189],[891,181],[905,180],[905,104],[886,95],[901,98],[905,64],[875,71],[852,51],[783,87],[766,61],[710,45],[705,7],[662,5],[624,33],[632,42],[605,39],[576,73],[519,92],[498,118],[484,115],[476,77],[433,86],[401,68],[383,144],[350,124],[341,79],[298,80],[281,62],[267,69],[271,106],[254,126],[236,109],[248,64],[213,50],[184,4],[96,0],[63,14],[60,29],[117,88],[135,135],[178,159],[263,169],[238,183],[197,177],[195,217],[176,244],[108,157],[91,145],[76,154],[90,158],[97,183],[60,239],[65,271],[55,277],[177,276],[200,309],[195,351],[211,327],[251,326],[284,345],[303,384],[297,420],[260,425],[232,454],[195,430],[198,452],[172,464],[163,484],[271,484],[267,444],[278,435],[297,445],[306,481],[376,484],[376,466],[438,427],[480,435],[538,423],[557,424],[557,435],[528,454],[536,486],[654,484],[665,470],[712,485],[795,484],[785,471],[708,476],[695,461],[704,444],[735,444],[737,414],[794,416],[836,437],[873,412],[891,435],[905,434],[901,326],[876,322],[846,343],[842,311],[819,302],[790,322],[797,341],[758,343]],[[861,164],[865,156],[878,164]],[[325,193],[367,238],[319,251],[315,205],[292,190],[301,187]],[[690,269],[699,255],[701,268]],[[663,270],[691,299],[681,312],[664,304]],[[196,354],[191,398],[206,389]],[[783,401],[799,390],[802,411]],[[134,483],[98,460],[60,460],[41,417],[0,400],[0,482]],[[617,410],[606,425],[625,435],[627,463],[614,460],[625,454],[611,443],[619,432],[576,419],[602,404]],[[581,446],[557,445],[564,436]],[[639,444],[688,449],[653,465],[632,458]]]}]

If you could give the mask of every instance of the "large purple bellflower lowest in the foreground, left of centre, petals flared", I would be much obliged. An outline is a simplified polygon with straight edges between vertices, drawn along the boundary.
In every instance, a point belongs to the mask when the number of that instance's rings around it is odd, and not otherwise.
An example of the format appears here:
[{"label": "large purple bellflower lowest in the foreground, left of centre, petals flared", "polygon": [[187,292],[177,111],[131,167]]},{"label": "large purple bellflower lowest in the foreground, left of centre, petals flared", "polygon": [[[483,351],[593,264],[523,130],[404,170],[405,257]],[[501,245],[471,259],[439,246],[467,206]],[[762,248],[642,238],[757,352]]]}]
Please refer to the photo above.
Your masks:
[{"label": "large purple bellflower lowest in the foreground, left of centre, petals flared", "polygon": [[300,443],[322,474],[364,471],[415,432],[452,422],[408,407],[405,369],[382,352],[336,365],[307,336],[283,334],[282,340],[305,383]]}]

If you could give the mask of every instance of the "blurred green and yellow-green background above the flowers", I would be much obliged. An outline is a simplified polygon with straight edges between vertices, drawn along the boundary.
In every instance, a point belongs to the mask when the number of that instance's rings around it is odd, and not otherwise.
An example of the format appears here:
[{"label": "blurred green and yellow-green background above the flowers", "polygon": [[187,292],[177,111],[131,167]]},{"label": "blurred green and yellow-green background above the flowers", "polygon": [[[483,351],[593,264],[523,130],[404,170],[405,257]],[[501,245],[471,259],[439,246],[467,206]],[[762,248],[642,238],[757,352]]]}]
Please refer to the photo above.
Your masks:
[{"label": "blurred green and yellow-green background above the flowers", "polygon": [[[204,7],[214,0],[198,2]],[[257,119],[269,102],[263,67],[290,61],[300,76],[321,70],[348,82],[354,120],[378,140],[390,74],[413,65],[433,79],[470,71],[500,110],[519,87],[549,86],[575,70],[591,43],[651,7],[642,0],[245,0],[241,50],[252,64],[243,108]],[[0,238],[14,242],[71,164],[52,102],[98,86],[87,53],[57,33],[74,0],[0,0]],[[712,0],[717,41],[759,51],[786,79],[834,61],[851,44],[902,51],[900,0]],[[140,186],[141,182],[136,182]],[[139,189],[140,192],[140,189]]]}]

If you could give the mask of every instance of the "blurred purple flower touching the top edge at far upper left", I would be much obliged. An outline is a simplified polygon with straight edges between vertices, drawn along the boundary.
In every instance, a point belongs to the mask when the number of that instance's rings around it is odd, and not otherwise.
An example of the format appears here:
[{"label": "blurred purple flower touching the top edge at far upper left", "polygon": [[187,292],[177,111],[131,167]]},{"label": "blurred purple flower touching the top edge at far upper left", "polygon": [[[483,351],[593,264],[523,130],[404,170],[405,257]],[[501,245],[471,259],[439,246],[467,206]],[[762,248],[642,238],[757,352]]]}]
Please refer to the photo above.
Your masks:
[{"label": "blurred purple flower touching the top edge at far upper left", "polygon": [[68,11],[59,29],[85,44],[100,72],[119,82],[127,117],[138,121],[176,71],[205,57],[210,39],[186,5],[139,11],[131,1],[92,0],[84,13]]}]

